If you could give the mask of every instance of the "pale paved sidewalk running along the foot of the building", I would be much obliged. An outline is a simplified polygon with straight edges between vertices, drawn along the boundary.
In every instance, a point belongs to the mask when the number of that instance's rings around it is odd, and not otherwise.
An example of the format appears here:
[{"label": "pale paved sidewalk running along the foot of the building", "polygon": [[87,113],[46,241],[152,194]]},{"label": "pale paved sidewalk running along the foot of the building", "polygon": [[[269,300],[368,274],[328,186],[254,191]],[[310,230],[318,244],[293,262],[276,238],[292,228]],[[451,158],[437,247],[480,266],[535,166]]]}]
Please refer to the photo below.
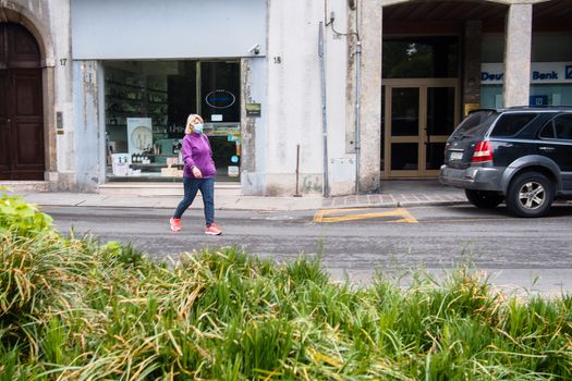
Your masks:
[{"label": "pale paved sidewalk running along the foot of the building", "polygon": [[[181,200],[178,194],[158,194],[159,192],[139,192],[138,194],[113,193],[107,189],[100,193],[59,193],[59,192],[16,192],[25,200],[38,206],[77,206],[108,208],[167,208],[174,209]],[[200,199],[200,194],[197,195]],[[379,193],[321,197],[304,195],[302,197],[264,197],[243,196],[238,186],[217,186],[215,208],[219,210],[316,210],[342,208],[400,208],[423,205],[464,204],[466,198],[462,189],[447,187],[437,180],[382,181]],[[193,209],[203,208],[203,202],[195,201]]]}]

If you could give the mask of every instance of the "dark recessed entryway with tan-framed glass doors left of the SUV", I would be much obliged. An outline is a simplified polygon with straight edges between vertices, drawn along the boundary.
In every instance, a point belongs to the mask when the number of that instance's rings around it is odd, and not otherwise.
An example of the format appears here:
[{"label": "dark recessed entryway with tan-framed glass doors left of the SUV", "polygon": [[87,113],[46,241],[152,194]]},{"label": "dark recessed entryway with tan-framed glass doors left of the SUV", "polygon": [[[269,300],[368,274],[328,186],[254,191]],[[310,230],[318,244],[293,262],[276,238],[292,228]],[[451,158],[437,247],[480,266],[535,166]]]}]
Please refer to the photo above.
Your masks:
[{"label": "dark recessed entryway with tan-framed glass doors left of the SUV", "polygon": [[508,5],[403,1],[382,9],[381,176],[435,177],[455,125],[480,103],[484,36]]}]

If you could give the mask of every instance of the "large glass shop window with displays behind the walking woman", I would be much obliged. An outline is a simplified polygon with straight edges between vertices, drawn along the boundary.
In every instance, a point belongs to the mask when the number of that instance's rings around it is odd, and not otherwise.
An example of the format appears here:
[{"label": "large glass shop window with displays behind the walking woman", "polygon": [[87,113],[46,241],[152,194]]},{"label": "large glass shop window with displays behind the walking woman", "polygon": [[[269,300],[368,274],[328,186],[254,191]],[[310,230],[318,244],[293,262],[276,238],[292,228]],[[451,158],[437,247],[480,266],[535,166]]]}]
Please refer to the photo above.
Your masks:
[{"label": "large glass shop window with displays behind the walking woman", "polygon": [[105,77],[108,180],[180,181],[190,113],[205,120],[219,180],[239,180],[238,61],[108,61]]}]

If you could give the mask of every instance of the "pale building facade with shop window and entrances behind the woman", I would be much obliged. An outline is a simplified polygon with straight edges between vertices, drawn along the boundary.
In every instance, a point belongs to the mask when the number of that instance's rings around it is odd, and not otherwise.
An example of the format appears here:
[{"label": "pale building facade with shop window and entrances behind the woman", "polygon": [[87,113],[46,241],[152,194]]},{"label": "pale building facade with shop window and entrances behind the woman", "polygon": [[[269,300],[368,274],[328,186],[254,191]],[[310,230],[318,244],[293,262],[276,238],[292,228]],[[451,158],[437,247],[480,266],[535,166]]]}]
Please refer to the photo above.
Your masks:
[{"label": "pale building facade with shop window and entrances behind the woman", "polygon": [[190,113],[245,195],[436,176],[470,110],[571,105],[570,15],[565,0],[0,0],[0,185],[178,182]]}]

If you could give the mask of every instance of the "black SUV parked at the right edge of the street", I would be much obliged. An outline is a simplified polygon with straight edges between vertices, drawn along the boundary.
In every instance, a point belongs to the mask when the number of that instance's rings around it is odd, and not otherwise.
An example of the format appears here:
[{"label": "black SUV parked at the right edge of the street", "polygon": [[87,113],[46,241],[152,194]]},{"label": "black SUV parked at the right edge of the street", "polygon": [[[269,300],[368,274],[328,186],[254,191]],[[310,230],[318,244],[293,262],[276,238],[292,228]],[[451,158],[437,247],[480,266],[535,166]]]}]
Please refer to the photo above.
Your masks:
[{"label": "black SUV parked at the right edge of the street", "polygon": [[473,111],[447,142],[439,180],[479,208],[504,201],[515,216],[543,216],[555,198],[572,199],[572,108]]}]

